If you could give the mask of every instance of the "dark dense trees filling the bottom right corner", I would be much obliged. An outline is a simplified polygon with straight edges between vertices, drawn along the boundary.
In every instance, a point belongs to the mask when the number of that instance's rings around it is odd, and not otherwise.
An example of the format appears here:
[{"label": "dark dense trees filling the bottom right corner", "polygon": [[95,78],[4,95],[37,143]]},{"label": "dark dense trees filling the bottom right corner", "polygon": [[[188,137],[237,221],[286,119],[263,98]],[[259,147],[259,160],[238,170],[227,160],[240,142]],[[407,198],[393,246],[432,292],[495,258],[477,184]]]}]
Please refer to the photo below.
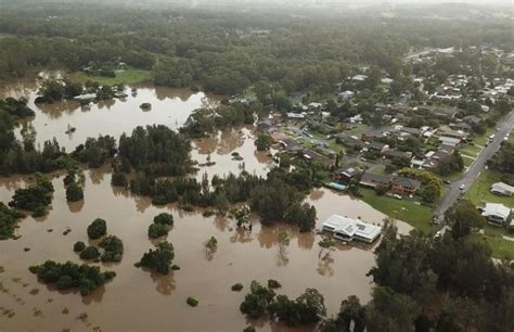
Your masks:
[{"label": "dark dense trees filling the bottom right corner", "polygon": [[[372,301],[343,301],[321,331],[510,331],[514,328],[514,274],[471,239],[399,237],[386,227],[369,272]],[[350,327],[354,325],[351,330]]]}]

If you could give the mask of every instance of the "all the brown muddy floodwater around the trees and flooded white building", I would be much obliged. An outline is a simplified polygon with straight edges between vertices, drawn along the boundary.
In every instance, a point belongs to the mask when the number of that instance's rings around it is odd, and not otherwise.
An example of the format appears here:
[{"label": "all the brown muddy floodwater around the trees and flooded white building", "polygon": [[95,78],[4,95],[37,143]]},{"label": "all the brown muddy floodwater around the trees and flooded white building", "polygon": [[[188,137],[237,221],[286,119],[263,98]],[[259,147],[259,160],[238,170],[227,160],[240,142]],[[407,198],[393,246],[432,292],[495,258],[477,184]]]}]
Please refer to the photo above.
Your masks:
[{"label": "all the brown muddy floodwater around the trees and flooded white building", "polygon": [[[143,91],[140,93],[138,90],[138,98],[145,93],[156,95],[152,88],[141,89]],[[182,102],[188,103],[190,99]],[[171,106],[177,101],[164,100],[168,104],[163,105],[163,110],[167,111],[163,111],[163,118],[155,122],[172,124],[176,118],[168,118],[168,114],[180,113],[179,108]],[[140,101],[119,103],[116,112],[137,114],[141,112]],[[193,106],[190,104],[190,107]],[[60,120],[61,117],[51,118],[42,110],[35,110],[37,115],[34,122],[43,117],[48,123],[49,131],[44,132],[52,132],[54,124],[66,123]],[[110,113],[112,110],[63,112],[69,119],[77,116],[86,124],[88,116],[95,117],[95,113]],[[154,111],[141,112],[142,116],[137,118],[150,124],[152,122],[144,116]],[[181,116],[178,118],[181,119]],[[102,133],[117,136],[118,125],[126,128],[123,130],[130,130],[128,125],[121,125],[124,120],[125,117],[121,117],[116,124],[110,123],[111,127],[105,125],[103,128],[106,131]],[[134,118],[129,122],[140,124]],[[80,132],[78,123],[77,135]],[[82,128],[90,128],[88,126]],[[37,130],[38,136],[43,135]],[[82,140],[74,137],[66,141],[67,146]],[[243,162],[232,159],[234,151],[240,153]],[[214,174],[239,173],[243,168],[265,175],[271,167],[270,157],[255,151],[252,128],[236,128],[194,142],[193,157],[205,163],[208,156],[216,165],[202,167],[198,177],[205,171],[210,177]],[[0,330],[241,331],[245,325],[253,324],[259,331],[287,331],[283,325],[267,320],[248,321],[240,312],[239,306],[252,280],[266,283],[268,279],[277,279],[283,285],[279,293],[291,297],[296,297],[306,288],[316,288],[324,295],[330,315],[338,310],[340,301],[348,295],[358,295],[363,303],[370,299],[372,282],[365,273],[374,264],[371,248],[338,245],[329,259],[320,260],[317,243],[321,237],[313,232],[298,233],[288,226],[260,227],[258,220],[254,220],[252,232],[241,231],[235,228],[234,220],[203,217],[200,212],[184,213],[174,205],[152,206],[145,197],[112,188],[108,167],[85,170],[85,175],[83,202],[67,204],[63,177],[55,176],[55,193],[49,215],[38,219],[27,217],[20,224],[18,240],[0,241],[0,271],[3,270],[0,272]],[[0,201],[9,202],[14,190],[26,186],[26,177],[1,179]],[[361,217],[375,224],[385,217],[361,201],[327,189],[313,190],[306,201],[318,209],[318,227],[334,213]],[[133,264],[156,243],[149,240],[147,227],[155,215],[165,210],[175,217],[167,239],[175,246],[174,263],[181,269],[169,276],[158,276],[138,269]],[[120,264],[100,264],[102,269],[116,271],[117,277],[86,297],[73,292],[60,293],[39,283],[28,267],[47,259],[80,263],[73,245],[76,241],[88,241],[86,228],[97,217],[106,219],[108,233],[124,241],[125,254]],[[399,228],[403,232],[409,230],[404,224],[399,224]],[[64,235],[67,229],[70,232]],[[281,241],[281,233],[287,233],[288,244]],[[218,240],[218,248],[209,256],[204,243],[213,235]],[[25,252],[26,247],[30,251]],[[244,290],[232,292],[231,285],[237,282],[244,284]],[[196,308],[188,306],[188,296],[198,299],[200,305]]]}]

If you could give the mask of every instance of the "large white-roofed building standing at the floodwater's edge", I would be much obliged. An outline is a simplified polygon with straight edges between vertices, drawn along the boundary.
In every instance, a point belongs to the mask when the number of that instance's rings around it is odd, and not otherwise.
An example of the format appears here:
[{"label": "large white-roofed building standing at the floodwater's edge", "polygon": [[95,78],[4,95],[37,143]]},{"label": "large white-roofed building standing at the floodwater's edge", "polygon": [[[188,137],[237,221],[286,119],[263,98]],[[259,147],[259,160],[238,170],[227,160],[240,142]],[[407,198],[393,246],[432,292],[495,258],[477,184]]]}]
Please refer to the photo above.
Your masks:
[{"label": "large white-roofed building standing at the floodwater's edge", "polygon": [[332,215],[323,221],[322,230],[331,232],[335,239],[351,242],[354,240],[373,243],[382,233],[382,227]]}]

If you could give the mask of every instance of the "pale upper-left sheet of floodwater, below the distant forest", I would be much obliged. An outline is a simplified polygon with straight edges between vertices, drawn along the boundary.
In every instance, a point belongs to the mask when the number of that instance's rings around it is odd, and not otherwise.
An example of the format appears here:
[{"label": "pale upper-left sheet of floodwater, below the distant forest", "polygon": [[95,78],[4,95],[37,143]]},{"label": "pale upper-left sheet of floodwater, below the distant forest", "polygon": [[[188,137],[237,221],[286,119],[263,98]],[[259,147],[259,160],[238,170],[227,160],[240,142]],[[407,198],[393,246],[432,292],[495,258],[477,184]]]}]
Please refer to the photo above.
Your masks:
[{"label": "pale upper-left sheet of floodwater, below the distant forest", "polygon": [[[130,92],[132,87],[137,88],[136,95]],[[141,84],[127,88],[129,95],[123,100],[102,101],[86,110],[76,101],[35,104],[37,91],[37,82],[11,84],[0,88],[0,98],[26,98],[28,106],[36,112],[29,123],[36,129],[37,143],[42,145],[46,140],[55,138],[67,152],[88,137],[111,135],[117,140],[124,132],[130,135],[137,126],[159,124],[178,129],[193,110],[216,103],[215,97],[209,98],[204,92]],[[142,103],[151,103],[152,110],[142,111]],[[76,131],[66,133],[69,127]]]}]

